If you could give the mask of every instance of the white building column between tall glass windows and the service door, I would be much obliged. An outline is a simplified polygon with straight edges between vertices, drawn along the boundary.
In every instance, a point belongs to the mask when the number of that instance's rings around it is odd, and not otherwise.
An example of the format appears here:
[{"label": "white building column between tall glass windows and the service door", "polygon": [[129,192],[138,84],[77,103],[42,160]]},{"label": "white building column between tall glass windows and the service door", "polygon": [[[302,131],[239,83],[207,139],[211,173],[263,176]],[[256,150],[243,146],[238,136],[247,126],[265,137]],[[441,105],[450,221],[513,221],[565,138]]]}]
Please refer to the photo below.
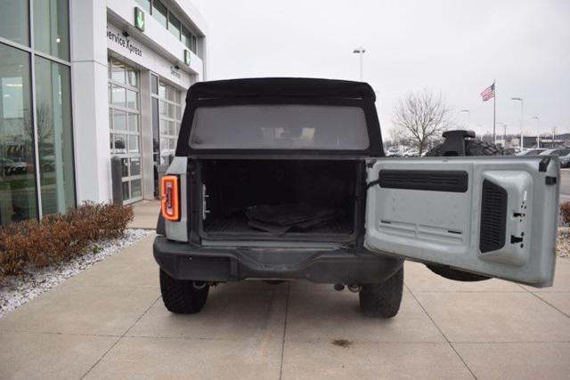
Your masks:
[{"label": "white building column between tall glass windows and the service door", "polygon": [[107,2],[71,0],[69,8],[77,204],[110,201]]}]

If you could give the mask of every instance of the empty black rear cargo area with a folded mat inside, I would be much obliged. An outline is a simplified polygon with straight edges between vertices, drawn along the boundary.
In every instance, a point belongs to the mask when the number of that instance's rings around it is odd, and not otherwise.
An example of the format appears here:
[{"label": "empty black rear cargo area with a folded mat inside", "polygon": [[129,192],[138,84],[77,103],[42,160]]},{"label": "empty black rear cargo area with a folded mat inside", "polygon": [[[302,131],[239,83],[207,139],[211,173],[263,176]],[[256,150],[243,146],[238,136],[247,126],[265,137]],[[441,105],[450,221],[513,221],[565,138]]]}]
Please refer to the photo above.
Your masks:
[{"label": "empty black rear cargo area with a folded mat inside", "polygon": [[201,160],[202,233],[213,239],[347,239],[362,162]]}]

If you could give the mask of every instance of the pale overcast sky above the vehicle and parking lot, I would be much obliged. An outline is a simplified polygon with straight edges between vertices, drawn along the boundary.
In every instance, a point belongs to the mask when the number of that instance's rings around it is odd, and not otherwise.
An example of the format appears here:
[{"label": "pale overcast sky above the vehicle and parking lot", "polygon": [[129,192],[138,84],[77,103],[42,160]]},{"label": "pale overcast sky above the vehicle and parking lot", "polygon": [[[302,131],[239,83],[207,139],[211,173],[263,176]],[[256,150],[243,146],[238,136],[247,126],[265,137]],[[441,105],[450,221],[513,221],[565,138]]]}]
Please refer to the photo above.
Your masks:
[{"label": "pale overcast sky above the vehicle and parking lot", "polygon": [[[455,120],[570,133],[570,1],[193,0],[208,22],[208,79],[325,77],[364,81],[377,92],[382,130],[411,91],[444,96]],[[460,109],[469,109],[469,114]],[[480,126],[479,126],[480,125]],[[498,132],[499,133],[499,132]],[[387,135],[386,135],[387,137]]]}]

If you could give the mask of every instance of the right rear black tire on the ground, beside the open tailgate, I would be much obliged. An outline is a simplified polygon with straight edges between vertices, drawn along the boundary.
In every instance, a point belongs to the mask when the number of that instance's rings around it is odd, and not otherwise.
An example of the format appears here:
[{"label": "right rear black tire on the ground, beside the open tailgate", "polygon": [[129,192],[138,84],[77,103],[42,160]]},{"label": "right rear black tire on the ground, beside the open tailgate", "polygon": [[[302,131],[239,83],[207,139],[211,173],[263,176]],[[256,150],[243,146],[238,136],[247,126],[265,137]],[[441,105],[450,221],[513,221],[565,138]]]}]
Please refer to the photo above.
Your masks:
[{"label": "right rear black tire on the ground, beside the open tailgate", "polygon": [[379,284],[363,284],[359,293],[362,313],[371,318],[392,318],[400,310],[403,267]]}]

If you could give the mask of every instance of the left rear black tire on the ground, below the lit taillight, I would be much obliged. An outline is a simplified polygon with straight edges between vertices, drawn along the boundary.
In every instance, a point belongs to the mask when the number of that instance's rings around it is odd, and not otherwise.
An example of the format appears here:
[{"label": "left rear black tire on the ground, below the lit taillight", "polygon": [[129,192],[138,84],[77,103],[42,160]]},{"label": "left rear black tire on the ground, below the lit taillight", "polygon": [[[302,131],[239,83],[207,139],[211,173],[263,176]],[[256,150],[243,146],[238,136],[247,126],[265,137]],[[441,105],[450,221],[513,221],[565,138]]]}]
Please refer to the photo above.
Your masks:
[{"label": "left rear black tire on the ground, below the lit taillight", "polygon": [[160,270],[160,293],[168,311],[176,314],[199,312],[208,299],[209,285],[197,289],[194,281],[173,279],[166,271]]}]

